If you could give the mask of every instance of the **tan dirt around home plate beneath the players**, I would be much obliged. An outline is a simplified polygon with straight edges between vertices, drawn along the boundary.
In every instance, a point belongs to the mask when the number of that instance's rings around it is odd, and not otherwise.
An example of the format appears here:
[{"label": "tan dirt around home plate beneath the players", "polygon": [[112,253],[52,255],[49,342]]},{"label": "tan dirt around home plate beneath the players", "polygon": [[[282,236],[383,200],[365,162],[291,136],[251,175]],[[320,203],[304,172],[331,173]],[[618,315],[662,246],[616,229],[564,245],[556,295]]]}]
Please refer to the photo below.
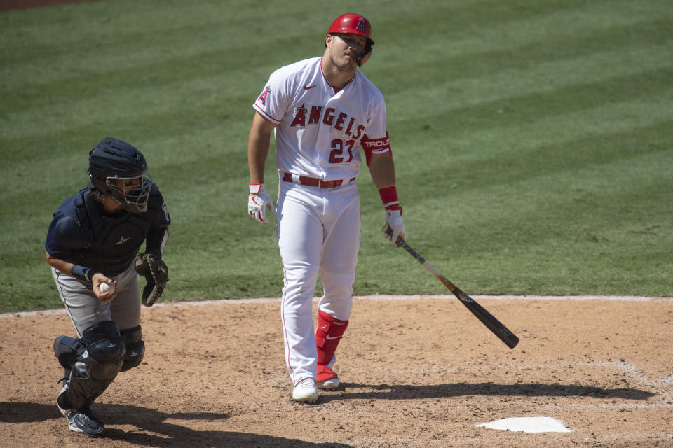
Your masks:
[{"label": "tan dirt around home plate beneath the players", "polygon": [[[343,387],[291,402],[280,302],[143,309],[140,367],[94,405],[105,437],[57,411],[66,314],[0,318],[3,447],[672,447],[671,300],[477,298],[508,349],[457,300],[355,300],[337,352]],[[549,416],[569,433],[475,425]]]}]

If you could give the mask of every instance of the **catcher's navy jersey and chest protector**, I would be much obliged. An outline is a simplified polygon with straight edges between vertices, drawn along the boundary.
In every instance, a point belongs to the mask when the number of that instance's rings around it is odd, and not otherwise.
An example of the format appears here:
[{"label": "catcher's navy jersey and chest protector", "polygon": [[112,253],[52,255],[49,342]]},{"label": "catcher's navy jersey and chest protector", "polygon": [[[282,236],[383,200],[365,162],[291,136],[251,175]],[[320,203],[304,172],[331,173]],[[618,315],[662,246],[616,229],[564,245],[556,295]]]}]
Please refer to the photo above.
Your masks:
[{"label": "catcher's navy jersey and chest protector", "polygon": [[63,201],[54,212],[44,246],[53,258],[116,276],[135,260],[152,228],[170,224],[168,207],[153,184],[147,211],[105,216],[91,196],[94,188],[90,183]]}]

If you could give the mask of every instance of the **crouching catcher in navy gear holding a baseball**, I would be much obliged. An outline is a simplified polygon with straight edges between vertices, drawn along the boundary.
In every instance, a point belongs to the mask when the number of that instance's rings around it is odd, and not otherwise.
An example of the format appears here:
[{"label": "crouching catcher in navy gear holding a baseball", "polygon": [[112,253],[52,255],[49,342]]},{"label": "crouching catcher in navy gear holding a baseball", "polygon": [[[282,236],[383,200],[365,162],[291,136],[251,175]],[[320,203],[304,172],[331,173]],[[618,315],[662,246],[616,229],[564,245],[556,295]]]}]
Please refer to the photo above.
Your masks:
[{"label": "crouching catcher in navy gear holding a baseball", "polygon": [[[168,269],[161,254],[168,239],[168,209],[142,153],[105,138],[89,153],[91,183],[54,212],[46,258],[77,337],[59,336],[54,354],[65,370],[57,406],[71,430],[102,435],[90,408],[118,372],[140,365],[145,350],[140,304],[161,295]],[[140,246],[145,253],[136,262]],[[142,297],[136,274],[148,274]]]}]

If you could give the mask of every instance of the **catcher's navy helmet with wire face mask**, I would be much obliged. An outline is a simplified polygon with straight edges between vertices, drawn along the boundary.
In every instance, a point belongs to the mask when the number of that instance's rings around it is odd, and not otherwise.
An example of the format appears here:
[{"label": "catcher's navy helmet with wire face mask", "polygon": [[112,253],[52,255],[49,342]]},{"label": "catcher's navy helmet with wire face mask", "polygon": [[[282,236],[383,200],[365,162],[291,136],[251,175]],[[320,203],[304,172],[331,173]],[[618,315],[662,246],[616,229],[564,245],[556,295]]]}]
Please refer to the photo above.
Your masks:
[{"label": "catcher's navy helmet with wire face mask", "polygon": [[111,137],[102,139],[89,152],[88,174],[93,185],[124,210],[147,211],[154,182],[144,156],[135,146]]}]

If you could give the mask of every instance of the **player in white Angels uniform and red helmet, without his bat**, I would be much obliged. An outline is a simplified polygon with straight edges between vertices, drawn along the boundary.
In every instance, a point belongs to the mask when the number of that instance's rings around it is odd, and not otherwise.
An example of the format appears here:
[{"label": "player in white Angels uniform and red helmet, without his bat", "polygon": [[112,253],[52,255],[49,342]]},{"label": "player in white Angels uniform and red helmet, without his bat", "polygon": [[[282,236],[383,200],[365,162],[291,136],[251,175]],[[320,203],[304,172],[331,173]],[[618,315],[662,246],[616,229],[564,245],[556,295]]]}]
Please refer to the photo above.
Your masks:
[{"label": "player in white Angels uniform and red helmet, without his bat", "polygon": [[[248,212],[267,223],[273,202],[264,187],[271,132],[280,181],[276,230],[283,260],[285,361],[292,399],[315,402],[317,388],[337,388],[335,351],[351,316],[360,246],[360,198],[355,178],[360,148],[385,209],[382,231],[406,240],[386,132],[386,104],[358,70],[372,55],[372,27],[358,14],[339,16],[322,57],[273,72],[254,102],[248,142]],[[318,275],[324,294],[313,326]]]}]

